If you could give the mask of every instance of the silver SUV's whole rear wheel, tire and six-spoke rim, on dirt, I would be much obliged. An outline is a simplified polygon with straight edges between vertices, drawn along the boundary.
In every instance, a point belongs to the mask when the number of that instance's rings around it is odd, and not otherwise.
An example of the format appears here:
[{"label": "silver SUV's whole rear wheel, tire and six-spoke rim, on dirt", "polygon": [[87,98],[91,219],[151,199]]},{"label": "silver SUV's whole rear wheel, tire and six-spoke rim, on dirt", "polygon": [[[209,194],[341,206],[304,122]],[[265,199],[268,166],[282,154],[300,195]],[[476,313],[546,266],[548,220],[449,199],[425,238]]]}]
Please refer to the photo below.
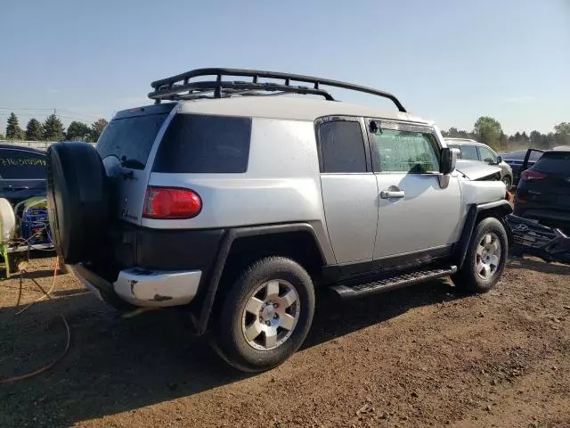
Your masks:
[{"label": "silver SUV's whole rear wheel, tire and six-spoke rim, on dirt", "polygon": [[230,365],[245,372],[279,366],[305,341],[314,315],[314,287],[291,259],[260,259],[227,293],[213,344]]}]

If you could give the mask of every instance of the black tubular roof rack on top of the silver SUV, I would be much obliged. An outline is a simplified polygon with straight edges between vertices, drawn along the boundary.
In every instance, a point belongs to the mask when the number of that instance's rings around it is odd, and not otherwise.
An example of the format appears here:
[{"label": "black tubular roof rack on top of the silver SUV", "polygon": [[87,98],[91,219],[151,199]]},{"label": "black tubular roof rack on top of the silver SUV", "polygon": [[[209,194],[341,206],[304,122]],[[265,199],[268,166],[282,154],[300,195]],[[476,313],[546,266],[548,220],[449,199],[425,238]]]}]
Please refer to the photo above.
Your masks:
[{"label": "black tubular roof rack on top of the silver SUV", "polygon": [[[203,76],[216,76],[214,80],[193,81],[192,78]],[[251,81],[223,80],[223,77],[247,77]],[[272,78],[283,80],[282,83],[260,82],[259,78]],[[309,83],[309,86],[294,86],[291,81],[298,83]],[[339,82],[327,78],[313,78],[298,74],[279,73],[262,70],[241,70],[241,69],[197,69],[187,71],[170,78],[162,78],[151,83],[153,91],[149,98],[160,103],[162,100],[191,100],[197,98],[223,98],[232,95],[283,95],[283,94],[308,94],[321,95],[326,100],[335,101],[328,91],[320,86],[334,86],[343,89],[363,92],[371,95],[378,95],[387,98],[395,103],[398,111],[406,112],[402,103],[395,97],[378,89],[367,86],[352,85],[350,83]],[[270,94],[267,94],[270,93]]]}]

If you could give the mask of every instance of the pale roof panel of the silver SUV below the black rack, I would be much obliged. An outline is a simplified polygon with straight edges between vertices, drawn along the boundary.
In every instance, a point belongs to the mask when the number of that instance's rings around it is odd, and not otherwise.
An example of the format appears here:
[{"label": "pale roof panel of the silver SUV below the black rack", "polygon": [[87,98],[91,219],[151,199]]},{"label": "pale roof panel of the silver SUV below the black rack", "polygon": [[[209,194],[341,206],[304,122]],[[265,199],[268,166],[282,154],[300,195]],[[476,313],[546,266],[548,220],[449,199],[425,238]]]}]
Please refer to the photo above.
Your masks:
[{"label": "pale roof panel of the silver SUV below the black rack", "polygon": [[366,105],[318,100],[302,96],[235,96],[232,98],[181,101],[183,113],[200,113],[253,118],[311,120],[323,116],[363,116],[408,120],[423,124],[430,121],[409,113],[381,110]]}]

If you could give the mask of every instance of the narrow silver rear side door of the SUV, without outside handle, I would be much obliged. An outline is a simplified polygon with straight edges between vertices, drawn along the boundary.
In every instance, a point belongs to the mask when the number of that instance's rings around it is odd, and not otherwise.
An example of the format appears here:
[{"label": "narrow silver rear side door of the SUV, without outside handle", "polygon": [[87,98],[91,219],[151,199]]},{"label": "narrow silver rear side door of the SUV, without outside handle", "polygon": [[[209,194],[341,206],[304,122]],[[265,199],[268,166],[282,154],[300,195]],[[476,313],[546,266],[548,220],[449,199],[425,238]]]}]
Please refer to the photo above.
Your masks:
[{"label": "narrow silver rear side door of the SUV, without outside handle", "polygon": [[378,222],[378,186],[363,119],[332,117],[316,124],[322,202],[330,243],[341,269],[371,263]]}]

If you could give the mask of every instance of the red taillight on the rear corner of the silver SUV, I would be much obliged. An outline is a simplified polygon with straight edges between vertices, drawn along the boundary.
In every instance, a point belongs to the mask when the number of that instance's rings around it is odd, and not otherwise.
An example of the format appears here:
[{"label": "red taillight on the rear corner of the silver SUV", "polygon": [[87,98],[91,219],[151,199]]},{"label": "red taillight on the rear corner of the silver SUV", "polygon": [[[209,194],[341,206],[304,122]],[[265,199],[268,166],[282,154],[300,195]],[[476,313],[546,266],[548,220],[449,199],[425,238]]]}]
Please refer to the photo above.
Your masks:
[{"label": "red taillight on the rear corner of the silver SUV", "polygon": [[144,196],[144,218],[192,218],[202,210],[198,193],[171,187],[147,187]]}]

